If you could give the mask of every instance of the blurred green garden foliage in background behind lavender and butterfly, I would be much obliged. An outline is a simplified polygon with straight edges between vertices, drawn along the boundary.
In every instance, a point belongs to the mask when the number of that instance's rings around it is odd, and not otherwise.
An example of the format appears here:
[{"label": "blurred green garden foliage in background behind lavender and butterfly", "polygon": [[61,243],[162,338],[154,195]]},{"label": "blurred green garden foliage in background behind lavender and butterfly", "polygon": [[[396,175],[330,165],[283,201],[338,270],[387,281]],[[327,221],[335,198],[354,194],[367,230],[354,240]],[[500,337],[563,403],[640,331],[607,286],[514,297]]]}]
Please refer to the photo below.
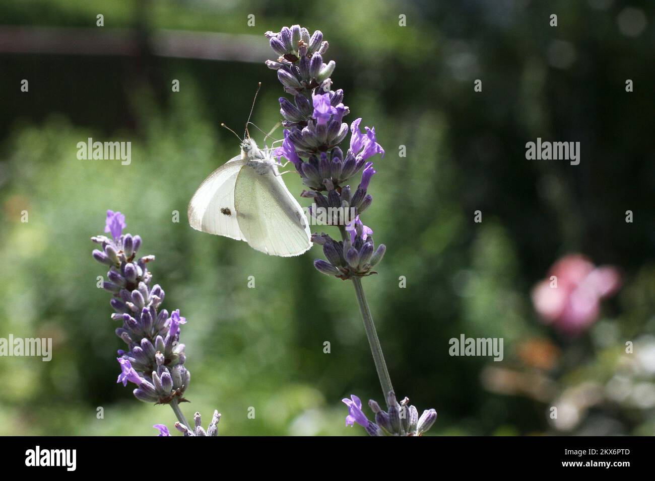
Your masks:
[{"label": "blurred green garden foliage in background behind lavender and butterfly", "polygon": [[[0,18],[90,27],[103,13],[105,28],[134,27],[136,5],[10,0]],[[502,364],[524,374],[533,368],[521,358],[522,343],[557,346],[555,367],[540,372],[555,396],[607,383],[623,366],[625,340],[650,342],[652,3],[328,0],[320,11],[277,1],[143,5],[152,29],[250,33],[263,43],[264,31],[295,23],[324,32],[326,58],[337,62],[334,88],[345,90],[350,107],[346,120],[362,116],[375,125],[386,149],[376,160],[373,206],[362,217],[387,254],[364,288],[398,395],[439,412],[430,434],[553,431],[552,399],[505,395],[483,382],[481,373],[495,368],[491,359],[449,356],[449,338],[462,332],[503,337]],[[626,5],[650,22],[640,37],[616,27]],[[551,11],[559,14],[557,29],[548,27]],[[255,27],[246,25],[250,13]],[[407,27],[398,26],[401,13]],[[555,39],[574,49],[571,65],[557,62]],[[157,257],[151,270],[166,291],[164,307],[189,321],[181,334],[191,370],[187,418],[199,410],[209,419],[217,408],[225,435],[362,434],[343,426],[340,399],[354,393],[381,401],[381,393],[352,286],[314,270],[318,247],[298,258],[266,257],[186,221],[202,179],[238,152],[218,126],[238,130],[257,81],[254,122],[267,131],[279,120],[274,72],[263,63],[146,60],[0,55],[0,337],[54,342],[49,363],[0,358],[0,434],[153,435],[151,425],[174,423],[169,408],[138,402],[115,383],[123,343],[109,319],[109,294],[96,289],[105,270],[91,258],[89,240],[102,233],[107,209],[122,211],[127,232],[142,236],[143,253]],[[24,78],[29,94],[18,92]],[[635,81],[631,94],[626,78]],[[180,92],[170,92],[171,79],[180,80]],[[483,79],[483,92],[473,92],[474,79]],[[87,137],[131,141],[132,163],[77,160],[76,145]],[[525,160],[525,142],[536,137],[582,141],[580,166]],[[406,157],[398,155],[401,145]],[[301,192],[297,176],[285,181]],[[624,221],[627,209],[633,224]],[[541,325],[530,300],[534,283],[571,251],[616,264],[625,279],[601,321],[574,341]],[[246,287],[248,276],[255,289]],[[651,374],[640,382],[652,381]],[[250,406],[255,419],[247,417]],[[627,397],[600,402],[569,431],[652,435],[653,406]]]}]

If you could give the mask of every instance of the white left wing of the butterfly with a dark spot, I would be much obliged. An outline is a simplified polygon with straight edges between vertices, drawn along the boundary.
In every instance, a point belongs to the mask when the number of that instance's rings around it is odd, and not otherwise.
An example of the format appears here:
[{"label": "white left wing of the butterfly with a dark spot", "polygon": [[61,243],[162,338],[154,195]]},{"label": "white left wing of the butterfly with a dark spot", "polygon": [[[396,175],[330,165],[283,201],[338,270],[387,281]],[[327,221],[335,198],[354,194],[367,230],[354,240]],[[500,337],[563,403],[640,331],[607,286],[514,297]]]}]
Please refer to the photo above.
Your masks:
[{"label": "white left wing of the butterfly with a dark spot", "polygon": [[215,169],[200,184],[187,211],[191,227],[217,236],[246,240],[239,229],[234,206],[234,185],[243,167],[244,160],[238,155]]}]

